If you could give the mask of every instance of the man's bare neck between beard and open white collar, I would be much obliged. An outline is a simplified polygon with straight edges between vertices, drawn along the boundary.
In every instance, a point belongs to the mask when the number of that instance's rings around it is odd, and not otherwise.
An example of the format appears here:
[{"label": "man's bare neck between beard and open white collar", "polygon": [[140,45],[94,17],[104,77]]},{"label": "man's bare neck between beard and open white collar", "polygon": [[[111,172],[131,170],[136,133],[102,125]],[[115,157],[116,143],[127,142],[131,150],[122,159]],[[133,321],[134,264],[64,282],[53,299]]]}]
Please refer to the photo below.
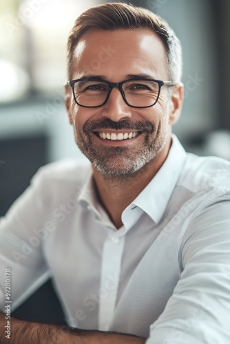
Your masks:
[{"label": "man's bare neck between beard and open white collar", "polygon": [[121,214],[125,208],[145,189],[165,162],[171,140],[164,149],[143,168],[130,175],[114,177],[105,175],[93,167],[94,182],[98,200],[116,226],[123,226]]}]

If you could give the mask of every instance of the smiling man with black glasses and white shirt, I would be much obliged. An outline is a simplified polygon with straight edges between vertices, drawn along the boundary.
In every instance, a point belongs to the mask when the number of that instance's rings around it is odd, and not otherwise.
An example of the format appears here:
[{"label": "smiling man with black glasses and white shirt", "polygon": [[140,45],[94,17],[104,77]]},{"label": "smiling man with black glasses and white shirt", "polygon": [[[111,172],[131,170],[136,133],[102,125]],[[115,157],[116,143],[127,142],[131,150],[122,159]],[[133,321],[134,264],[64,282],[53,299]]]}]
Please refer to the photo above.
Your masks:
[{"label": "smiling man with black glasses and white shirt", "polygon": [[12,305],[50,274],[75,328],[12,319],[12,343],[229,343],[230,164],[171,134],[180,42],[155,14],[106,3],[67,50],[67,114],[91,164],[37,173],[1,220],[0,267]]}]

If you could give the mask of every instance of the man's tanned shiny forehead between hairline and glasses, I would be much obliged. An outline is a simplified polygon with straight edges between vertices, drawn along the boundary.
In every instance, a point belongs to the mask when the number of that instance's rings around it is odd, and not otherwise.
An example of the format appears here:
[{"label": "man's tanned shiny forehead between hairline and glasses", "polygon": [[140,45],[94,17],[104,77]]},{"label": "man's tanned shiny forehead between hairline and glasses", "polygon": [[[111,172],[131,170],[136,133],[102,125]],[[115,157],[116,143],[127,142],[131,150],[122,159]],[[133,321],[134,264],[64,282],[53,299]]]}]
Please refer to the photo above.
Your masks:
[{"label": "man's tanned shiny forehead between hairline and glasses", "polygon": [[167,78],[165,46],[150,29],[88,30],[73,54],[74,78],[103,75],[114,82],[127,74]]}]

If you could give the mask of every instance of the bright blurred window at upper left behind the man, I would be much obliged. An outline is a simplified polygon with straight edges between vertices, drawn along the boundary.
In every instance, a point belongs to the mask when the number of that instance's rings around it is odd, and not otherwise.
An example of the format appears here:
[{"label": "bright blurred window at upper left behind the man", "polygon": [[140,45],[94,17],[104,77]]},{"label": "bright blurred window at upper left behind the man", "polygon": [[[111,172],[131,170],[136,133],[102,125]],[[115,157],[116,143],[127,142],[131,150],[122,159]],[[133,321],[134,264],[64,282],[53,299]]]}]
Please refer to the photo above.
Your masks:
[{"label": "bright blurred window at upper left behind the man", "polygon": [[66,80],[67,36],[96,0],[8,0],[0,3],[0,103],[30,92],[54,92]]}]

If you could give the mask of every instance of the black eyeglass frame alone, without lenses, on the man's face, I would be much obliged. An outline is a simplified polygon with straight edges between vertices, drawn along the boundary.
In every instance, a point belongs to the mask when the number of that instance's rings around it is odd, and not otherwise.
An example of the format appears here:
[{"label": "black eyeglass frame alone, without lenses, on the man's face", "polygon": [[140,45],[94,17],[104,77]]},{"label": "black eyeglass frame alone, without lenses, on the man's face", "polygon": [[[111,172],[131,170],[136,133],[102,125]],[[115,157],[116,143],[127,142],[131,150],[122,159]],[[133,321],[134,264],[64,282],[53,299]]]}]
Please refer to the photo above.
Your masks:
[{"label": "black eyeglass frame alone, without lenses, on the man's face", "polygon": [[[107,96],[105,98],[105,101],[101,104],[101,105],[96,105],[96,106],[87,106],[87,105],[81,105],[79,104],[79,102],[76,100],[76,96],[74,94],[74,84],[78,81],[87,81],[87,80],[92,80],[92,81],[99,81],[99,82],[103,82],[103,83],[106,83],[109,88],[108,88],[108,91],[107,91]],[[124,81],[121,81],[121,83],[110,83],[110,81],[107,81],[107,80],[102,80],[102,79],[94,79],[94,78],[81,78],[81,79],[75,79],[75,80],[69,80],[67,81],[67,85],[69,85],[71,88],[72,88],[72,94],[74,96],[74,100],[76,102],[77,105],[81,106],[81,107],[102,107],[103,105],[105,105],[105,103],[107,102],[107,100],[109,99],[109,96],[110,96],[110,93],[112,92],[112,89],[114,87],[117,87],[119,89],[119,91],[121,92],[121,96],[123,98],[123,100],[125,101],[125,103],[127,105],[129,105],[129,107],[138,107],[138,106],[134,106],[134,105],[131,105],[129,104],[129,102],[127,101],[127,99],[125,98],[125,92],[123,91],[123,84],[124,83],[128,83],[129,81],[138,81],[138,80],[145,80],[145,81],[154,81],[156,83],[158,83],[158,96],[156,97],[156,100],[155,100],[155,103],[152,104],[152,105],[147,105],[146,107],[153,107],[157,102],[158,102],[158,98],[160,96],[160,89],[161,87],[163,86],[175,86],[176,84],[174,83],[171,83],[171,81],[163,81],[163,80],[156,80],[156,79],[145,79],[145,78],[132,78],[132,79],[128,79],[128,80],[124,80]],[[146,108],[146,107],[138,107],[138,108]]]}]

